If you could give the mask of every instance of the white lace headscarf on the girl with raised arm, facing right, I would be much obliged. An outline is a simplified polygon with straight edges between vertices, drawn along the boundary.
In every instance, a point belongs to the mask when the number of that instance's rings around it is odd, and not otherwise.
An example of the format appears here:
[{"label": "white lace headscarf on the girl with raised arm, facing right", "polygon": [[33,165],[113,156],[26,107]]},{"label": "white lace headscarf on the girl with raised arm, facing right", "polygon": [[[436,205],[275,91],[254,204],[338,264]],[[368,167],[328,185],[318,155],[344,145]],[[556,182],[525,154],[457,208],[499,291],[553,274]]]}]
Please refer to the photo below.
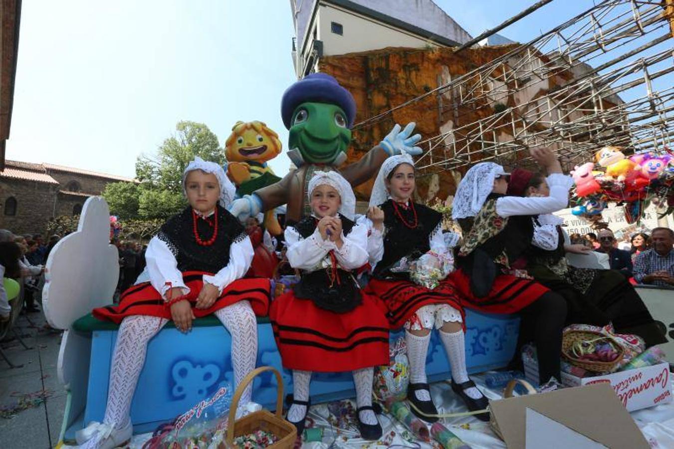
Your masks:
[{"label": "white lace headscarf on the girl with raised arm, facing right", "polygon": [[487,196],[494,189],[494,179],[499,175],[508,173],[494,162],[480,162],[470,167],[456,189],[452,203],[452,219],[477,215]]}]

